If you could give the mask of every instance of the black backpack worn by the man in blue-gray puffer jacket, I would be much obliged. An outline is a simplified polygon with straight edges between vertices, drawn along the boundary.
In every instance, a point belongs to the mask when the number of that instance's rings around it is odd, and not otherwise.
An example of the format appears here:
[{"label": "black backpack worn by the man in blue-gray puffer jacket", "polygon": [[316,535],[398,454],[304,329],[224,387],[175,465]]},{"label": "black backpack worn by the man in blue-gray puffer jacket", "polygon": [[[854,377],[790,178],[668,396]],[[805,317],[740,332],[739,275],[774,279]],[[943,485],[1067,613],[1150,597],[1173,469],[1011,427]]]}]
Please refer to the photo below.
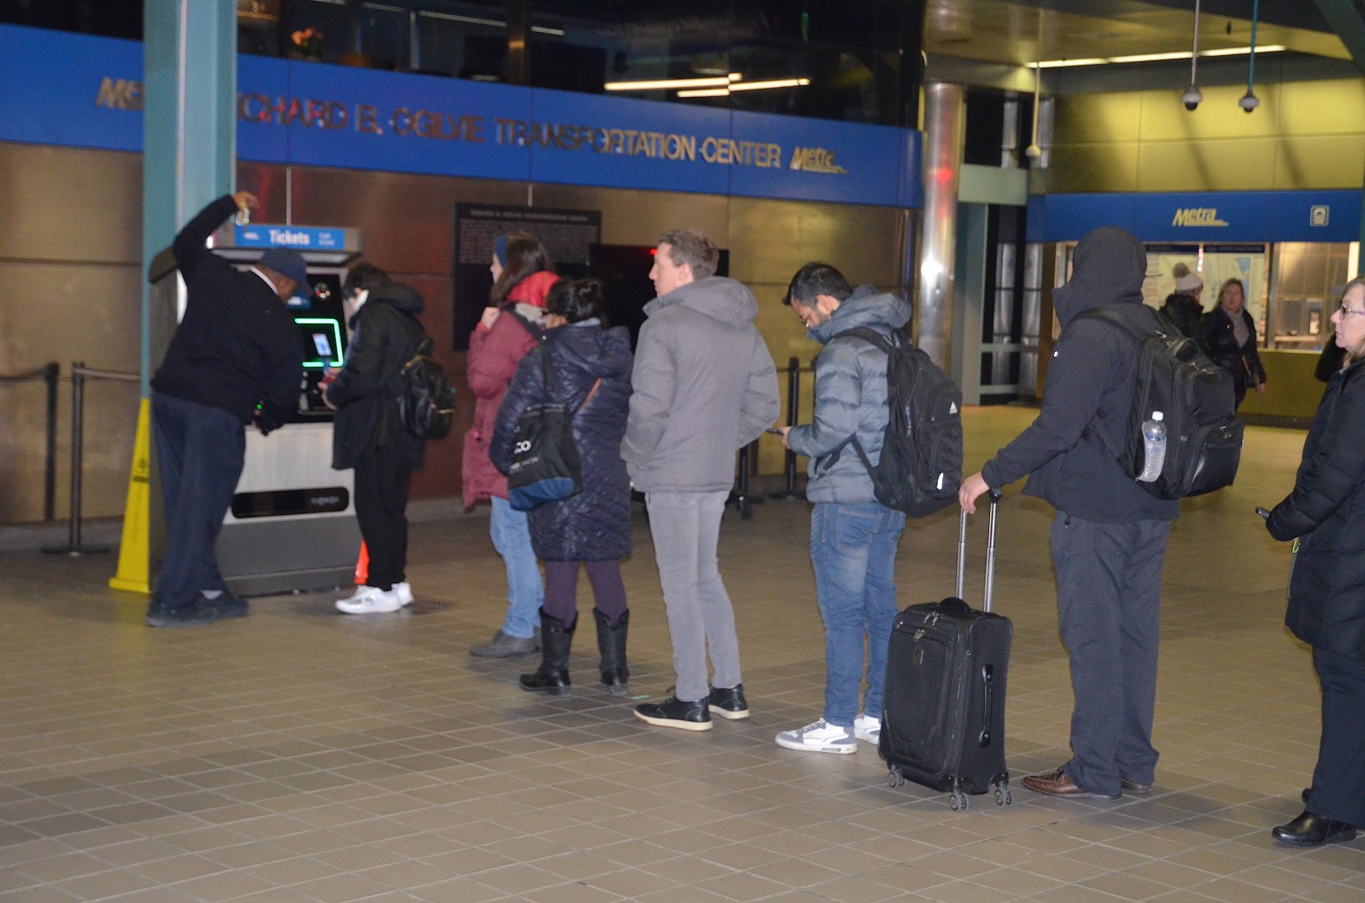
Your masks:
[{"label": "black backpack worn by the man in blue-gray puffer jacket", "polygon": [[874,465],[850,441],[882,505],[924,517],[957,501],[962,484],[962,390],[928,355],[865,326],[839,333],[886,352],[889,416]]}]

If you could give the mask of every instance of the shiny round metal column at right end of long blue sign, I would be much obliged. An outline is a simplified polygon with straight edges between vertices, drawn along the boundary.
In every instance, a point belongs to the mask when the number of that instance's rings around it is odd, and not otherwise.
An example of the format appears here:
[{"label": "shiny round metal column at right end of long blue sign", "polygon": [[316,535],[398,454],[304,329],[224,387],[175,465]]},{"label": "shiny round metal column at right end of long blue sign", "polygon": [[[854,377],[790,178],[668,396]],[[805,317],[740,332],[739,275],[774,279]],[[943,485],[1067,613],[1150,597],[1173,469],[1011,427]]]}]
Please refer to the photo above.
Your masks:
[{"label": "shiny round metal column at right end of long blue sign", "polygon": [[949,370],[953,334],[953,277],[957,237],[957,183],[966,116],[962,86],[924,86],[924,228],[920,236],[920,291],[916,341]]}]

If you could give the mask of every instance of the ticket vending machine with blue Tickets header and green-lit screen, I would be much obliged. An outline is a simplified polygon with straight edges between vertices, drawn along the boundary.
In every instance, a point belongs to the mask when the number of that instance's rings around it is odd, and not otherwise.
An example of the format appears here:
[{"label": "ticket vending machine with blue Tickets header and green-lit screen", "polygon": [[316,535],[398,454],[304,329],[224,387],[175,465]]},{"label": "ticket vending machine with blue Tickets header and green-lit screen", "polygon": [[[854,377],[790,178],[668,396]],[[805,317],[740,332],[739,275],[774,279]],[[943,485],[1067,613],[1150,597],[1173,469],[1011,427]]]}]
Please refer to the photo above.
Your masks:
[{"label": "ticket vending machine with blue Tickets header and green-lit screen", "polygon": [[[303,256],[308,285],[288,301],[299,334],[298,405],[291,421],[268,436],[247,427],[242,479],[218,535],[218,569],[228,588],[244,596],[348,585],[360,550],[352,472],[332,469],[332,411],[317,387],[325,367],[345,361],[341,281],[345,265],[360,254],[359,233],[229,222],[213,236],[214,252],[243,269],[272,247]],[[162,256],[161,267],[153,263],[153,306],[161,312],[160,329],[153,329],[157,363],[184,311],[184,281],[169,251]]]}]

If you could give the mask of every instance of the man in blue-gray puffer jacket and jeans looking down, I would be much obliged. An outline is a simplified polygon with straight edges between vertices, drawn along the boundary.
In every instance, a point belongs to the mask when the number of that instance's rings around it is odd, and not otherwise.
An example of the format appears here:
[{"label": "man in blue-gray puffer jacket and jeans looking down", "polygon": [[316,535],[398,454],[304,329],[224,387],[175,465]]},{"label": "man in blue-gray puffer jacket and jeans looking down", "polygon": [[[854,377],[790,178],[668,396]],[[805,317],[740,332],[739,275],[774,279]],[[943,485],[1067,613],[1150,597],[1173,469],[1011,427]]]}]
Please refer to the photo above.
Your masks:
[{"label": "man in blue-gray puffer jacket and jeans looking down", "polygon": [[[876,462],[889,420],[887,352],[850,330],[871,329],[905,341],[897,330],[910,306],[871,285],[850,289],[829,263],[807,263],[786,291],[807,336],[824,345],[815,360],[815,421],[779,427],[788,449],[809,458],[805,498],[811,512],[811,565],[824,621],[824,712],[805,727],[782,731],[778,746],[853,753],[876,743],[882,728],[886,649],[895,621],[895,547],[905,514],[876,501],[872,477],[852,447],[856,439]],[[867,641],[867,694],[859,711]]]}]

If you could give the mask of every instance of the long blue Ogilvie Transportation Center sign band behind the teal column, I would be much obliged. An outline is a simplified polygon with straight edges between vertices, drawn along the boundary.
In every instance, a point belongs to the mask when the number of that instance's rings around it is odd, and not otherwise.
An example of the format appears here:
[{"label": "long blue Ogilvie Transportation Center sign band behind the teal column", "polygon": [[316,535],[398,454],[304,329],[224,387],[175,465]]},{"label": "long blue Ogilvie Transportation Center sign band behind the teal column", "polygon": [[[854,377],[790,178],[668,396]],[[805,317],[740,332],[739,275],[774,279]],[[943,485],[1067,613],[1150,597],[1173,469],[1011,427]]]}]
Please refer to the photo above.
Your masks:
[{"label": "long blue Ogilvie Transportation Center sign band behind the teal column", "polygon": [[[142,150],[142,45],[0,26],[0,140]],[[238,157],[921,207],[913,130],[242,56]]]}]

